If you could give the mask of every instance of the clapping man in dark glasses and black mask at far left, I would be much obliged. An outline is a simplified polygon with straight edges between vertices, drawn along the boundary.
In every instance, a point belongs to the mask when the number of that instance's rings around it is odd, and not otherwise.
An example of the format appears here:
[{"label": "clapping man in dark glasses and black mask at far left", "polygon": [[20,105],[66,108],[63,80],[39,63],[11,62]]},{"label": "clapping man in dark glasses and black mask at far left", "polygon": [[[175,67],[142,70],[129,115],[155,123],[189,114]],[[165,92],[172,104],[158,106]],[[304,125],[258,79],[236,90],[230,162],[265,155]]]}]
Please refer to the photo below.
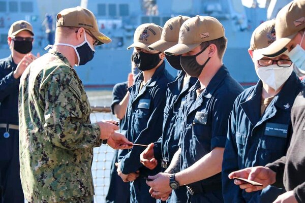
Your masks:
[{"label": "clapping man in dark glasses and black mask at far left", "polygon": [[23,202],[19,175],[18,93],[20,76],[36,58],[31,24],[14,22],[8,33],[11,55],[0,60],[0,202]]}]

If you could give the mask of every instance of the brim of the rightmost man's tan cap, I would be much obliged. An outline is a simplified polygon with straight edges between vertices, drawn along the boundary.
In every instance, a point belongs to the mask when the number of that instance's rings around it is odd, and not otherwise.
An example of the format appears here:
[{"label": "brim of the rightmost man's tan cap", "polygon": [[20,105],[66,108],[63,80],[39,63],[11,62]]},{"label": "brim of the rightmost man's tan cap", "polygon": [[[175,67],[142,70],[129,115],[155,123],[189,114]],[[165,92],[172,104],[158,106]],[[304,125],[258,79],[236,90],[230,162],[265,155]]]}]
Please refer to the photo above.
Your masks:
[{"label": "brim of the rightmost man's tan cap", "polygon": [[285,46],[296,36],[296,34],[297,33],[286,38],[277,39],[268,47],[260,49],[260,53],[270,58],[277,57],[283,54],[287,50]]}]

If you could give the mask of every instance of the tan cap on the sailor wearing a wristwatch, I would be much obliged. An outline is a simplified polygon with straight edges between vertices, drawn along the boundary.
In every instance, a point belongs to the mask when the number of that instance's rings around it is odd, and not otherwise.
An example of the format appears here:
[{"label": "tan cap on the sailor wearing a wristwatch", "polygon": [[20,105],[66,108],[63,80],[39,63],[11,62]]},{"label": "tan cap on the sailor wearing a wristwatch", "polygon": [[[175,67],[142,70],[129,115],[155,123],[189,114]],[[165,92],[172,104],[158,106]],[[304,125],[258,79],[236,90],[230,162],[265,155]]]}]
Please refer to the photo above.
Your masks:
[{"label": "tan cap on the sailor wearing a wristwatch", "polygon": [[224,36],[225,29],[216,18],[197,15],[181,25],[178,44],[165,50],[164,53],[167,55],[184,54],[202,42],[216,40]]}]

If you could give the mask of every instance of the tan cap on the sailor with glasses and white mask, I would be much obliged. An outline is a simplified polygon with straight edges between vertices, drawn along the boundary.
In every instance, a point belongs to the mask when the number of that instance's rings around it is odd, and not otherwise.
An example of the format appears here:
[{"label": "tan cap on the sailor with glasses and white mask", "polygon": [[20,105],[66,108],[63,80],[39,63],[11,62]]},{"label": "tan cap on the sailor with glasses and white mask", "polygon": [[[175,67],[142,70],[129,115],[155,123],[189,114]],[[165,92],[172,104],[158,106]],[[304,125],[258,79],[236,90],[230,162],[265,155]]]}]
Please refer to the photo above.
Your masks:
[{"label": "tan cap on the sailor with glasses and white mask", "polygon": [[260,24],[252,33],[250,49],[253,50],[253,59],[264,57],[260,51],[276,41],[276,19],[268,20]]}]

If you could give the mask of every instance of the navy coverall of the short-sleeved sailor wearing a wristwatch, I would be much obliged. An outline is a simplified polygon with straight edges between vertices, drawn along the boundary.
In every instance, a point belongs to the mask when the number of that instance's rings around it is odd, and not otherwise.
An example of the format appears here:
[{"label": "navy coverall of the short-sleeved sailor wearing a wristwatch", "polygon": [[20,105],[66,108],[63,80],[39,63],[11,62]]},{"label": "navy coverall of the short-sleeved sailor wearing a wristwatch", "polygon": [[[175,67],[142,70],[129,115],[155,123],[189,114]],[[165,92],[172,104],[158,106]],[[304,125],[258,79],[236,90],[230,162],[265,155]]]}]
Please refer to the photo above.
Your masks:
[{"label": "navy coverall of the short-sleeved sailor wearing a wristwatch", "polygon": [[[223,65],[197,97],[198,81],[186,96],[185,124],[180,146],[180,170],[193,165],[216,147],[225,147],[228,119],[237,95],[243,88]],[[223,202],[221,173],[189,184],[188,202]]]}]

